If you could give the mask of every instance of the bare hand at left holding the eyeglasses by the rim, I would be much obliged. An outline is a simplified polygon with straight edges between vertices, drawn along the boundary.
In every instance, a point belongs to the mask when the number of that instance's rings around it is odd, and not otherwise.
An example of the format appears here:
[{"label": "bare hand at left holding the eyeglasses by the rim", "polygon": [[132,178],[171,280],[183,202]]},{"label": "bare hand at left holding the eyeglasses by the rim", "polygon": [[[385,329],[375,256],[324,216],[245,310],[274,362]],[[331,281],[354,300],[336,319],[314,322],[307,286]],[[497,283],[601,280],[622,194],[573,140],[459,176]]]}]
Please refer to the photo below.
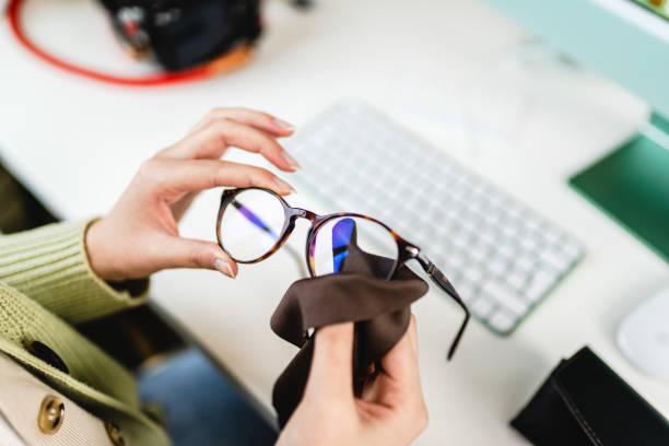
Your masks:
[{"label": "bare hand at left holding the eyeglasses by the rim", "polygon": [[221,161],[231,146],[256,152],[285,172],[300,166],[277,142],[293,127],[243,108],[216,108],[181,141],[142,164],[111,212],[91,225],[86,250],[109,281],[140,279],[166,268],[216,269],[234,278],[236,263],[215,243],[179,237],[178,222],[200,190],[218,186],[293,188],[271,172]]}]

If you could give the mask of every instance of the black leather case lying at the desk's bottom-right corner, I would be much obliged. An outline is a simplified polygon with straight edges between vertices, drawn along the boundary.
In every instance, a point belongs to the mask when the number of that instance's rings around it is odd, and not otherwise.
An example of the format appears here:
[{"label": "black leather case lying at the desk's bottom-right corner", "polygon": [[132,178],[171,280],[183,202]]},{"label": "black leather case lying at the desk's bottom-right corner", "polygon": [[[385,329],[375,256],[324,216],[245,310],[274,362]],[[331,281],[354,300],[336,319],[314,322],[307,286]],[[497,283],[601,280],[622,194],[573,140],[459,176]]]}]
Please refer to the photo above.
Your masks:
[{"label": "black leather case lying at the desk's bottom-right corner", "polygon": [[669,422],[587,347],[560,363],[510,424],[537,446],[669,445]]}]

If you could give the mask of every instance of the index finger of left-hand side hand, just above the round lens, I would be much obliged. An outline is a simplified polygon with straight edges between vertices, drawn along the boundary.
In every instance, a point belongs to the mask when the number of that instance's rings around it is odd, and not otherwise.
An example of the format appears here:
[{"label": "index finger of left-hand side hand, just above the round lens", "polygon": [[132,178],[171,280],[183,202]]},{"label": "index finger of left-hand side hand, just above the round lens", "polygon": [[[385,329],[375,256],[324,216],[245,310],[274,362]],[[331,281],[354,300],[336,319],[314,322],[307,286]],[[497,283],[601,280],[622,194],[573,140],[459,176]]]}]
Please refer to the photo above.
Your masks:
[{"label": "index finger of left-hand side hand, just above the round lens", "polygon": [[172,203],[185,193],[227,187],[260,187],[279,195],[294,189],[290,184],[262,167],[220,160],[149,160],[140,167],[143,190]]}]

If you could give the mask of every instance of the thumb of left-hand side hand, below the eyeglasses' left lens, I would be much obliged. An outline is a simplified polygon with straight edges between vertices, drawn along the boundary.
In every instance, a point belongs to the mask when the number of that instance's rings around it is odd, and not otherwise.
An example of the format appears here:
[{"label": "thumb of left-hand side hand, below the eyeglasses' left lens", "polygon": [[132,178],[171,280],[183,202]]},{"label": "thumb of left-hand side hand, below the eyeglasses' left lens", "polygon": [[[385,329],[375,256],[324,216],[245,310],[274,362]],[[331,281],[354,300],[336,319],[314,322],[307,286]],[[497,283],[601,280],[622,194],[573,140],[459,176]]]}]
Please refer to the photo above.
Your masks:
[{"label": "thumb of left-hand side hand, below the eyeglasses' left lens", "polygon": [[237,263],[213,242],[174,237],[165,245],[165,268],[211,269],[232,279],[237,275]]}]

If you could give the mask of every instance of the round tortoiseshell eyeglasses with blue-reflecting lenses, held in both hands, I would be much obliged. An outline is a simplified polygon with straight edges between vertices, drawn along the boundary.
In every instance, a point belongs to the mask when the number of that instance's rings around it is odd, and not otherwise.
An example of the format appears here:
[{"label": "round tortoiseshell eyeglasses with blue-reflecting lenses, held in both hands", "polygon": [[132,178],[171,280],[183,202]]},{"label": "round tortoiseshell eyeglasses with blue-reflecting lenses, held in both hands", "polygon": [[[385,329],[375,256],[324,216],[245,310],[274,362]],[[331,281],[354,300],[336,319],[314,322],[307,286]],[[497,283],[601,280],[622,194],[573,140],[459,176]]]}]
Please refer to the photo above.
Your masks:
[{"label": "round tortoiseshell eyeglasses with blue-reflecting lenses, held in both hands", "polygon": [[448,350],[450,360],[469,321],[467,306],[421,248],[378,220],[356,213],[318,215],[305,209],[291,208],[283,198],[267,189],[226,189],[221,196],[216,238],[221,248],[236,262],[256,263],[270,257],[285,243],[297,219],[312,222],[305,249],[310,277],[342,272],[347,256],[353,248],[388,259],[376,262],[372,271],[383,280],[392,278],[407,261],[418,260],[432,281],[465,310],[465,319]]}]

